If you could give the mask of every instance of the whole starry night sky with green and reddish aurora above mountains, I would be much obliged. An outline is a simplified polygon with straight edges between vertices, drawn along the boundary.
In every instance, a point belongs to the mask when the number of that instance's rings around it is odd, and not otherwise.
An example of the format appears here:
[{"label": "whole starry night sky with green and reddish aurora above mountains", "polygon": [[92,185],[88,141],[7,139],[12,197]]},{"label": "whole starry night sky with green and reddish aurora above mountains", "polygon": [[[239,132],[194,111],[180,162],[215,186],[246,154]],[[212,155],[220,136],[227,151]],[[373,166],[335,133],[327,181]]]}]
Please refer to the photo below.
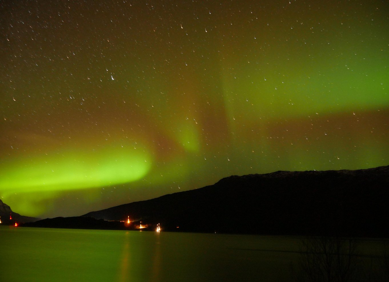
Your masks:
[{"label": "whole starry night sky with green and reddish aurora above mountains", "polygon": [[0,197],[75,216],[389,164],[389,3],[1,1]]}]

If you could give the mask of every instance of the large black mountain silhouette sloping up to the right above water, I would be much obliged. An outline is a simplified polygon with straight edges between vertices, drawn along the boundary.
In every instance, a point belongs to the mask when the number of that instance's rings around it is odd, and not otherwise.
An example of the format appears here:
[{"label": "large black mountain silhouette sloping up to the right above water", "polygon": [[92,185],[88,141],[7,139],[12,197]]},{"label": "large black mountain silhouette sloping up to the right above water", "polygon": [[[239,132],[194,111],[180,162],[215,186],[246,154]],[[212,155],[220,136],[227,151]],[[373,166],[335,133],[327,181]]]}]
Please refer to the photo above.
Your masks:
[{"label": "large black mountain silhouette sloping up to the right above water", "polygon": [[[93,211],[164,230],[388,237],[389,166],[230,176],[214,185]],[[179,227],[179,228],[177,228]]]}]

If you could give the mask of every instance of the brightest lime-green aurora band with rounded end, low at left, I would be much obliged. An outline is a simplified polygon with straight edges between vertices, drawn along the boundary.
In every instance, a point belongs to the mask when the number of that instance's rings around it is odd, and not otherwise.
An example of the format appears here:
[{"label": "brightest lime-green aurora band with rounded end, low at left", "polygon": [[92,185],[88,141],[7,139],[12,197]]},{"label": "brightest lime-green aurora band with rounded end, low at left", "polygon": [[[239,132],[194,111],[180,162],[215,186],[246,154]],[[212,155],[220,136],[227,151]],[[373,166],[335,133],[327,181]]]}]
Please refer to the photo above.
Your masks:
[{"label": "brightest lime-green aurora band with rounded end, low at left", "polygon": [[0,189],[42,192],[115,185],[142,178],[150,166],[147,154],[131,147],[89,153],[65,151],[63,155],[37,156],[3,165]]}]

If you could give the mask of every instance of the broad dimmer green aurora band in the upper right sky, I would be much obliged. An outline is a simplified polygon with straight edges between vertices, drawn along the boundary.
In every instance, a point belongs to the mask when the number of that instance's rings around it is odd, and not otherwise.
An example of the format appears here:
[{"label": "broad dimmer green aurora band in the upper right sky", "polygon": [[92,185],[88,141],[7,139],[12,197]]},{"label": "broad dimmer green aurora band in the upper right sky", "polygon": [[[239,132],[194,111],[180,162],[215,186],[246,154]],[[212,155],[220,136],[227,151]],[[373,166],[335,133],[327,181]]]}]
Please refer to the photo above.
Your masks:
[{"label": "broad dimmer green aurora band in the upper right sky", "polygon": [[[329,68],[328,60],[335,67]],[[377,64],[357,64],[350,69],[339,66],[330,56],[319,57],[311,71],[289,64],[278,67],[277,74],[247,66],[238,70],[240,78],[224,74],[224,102],[231,115],[244,114],[247,119],[306,117],[315,112],[389,106],[387,88],[383,86],[389,78],[378,60]]]}]

